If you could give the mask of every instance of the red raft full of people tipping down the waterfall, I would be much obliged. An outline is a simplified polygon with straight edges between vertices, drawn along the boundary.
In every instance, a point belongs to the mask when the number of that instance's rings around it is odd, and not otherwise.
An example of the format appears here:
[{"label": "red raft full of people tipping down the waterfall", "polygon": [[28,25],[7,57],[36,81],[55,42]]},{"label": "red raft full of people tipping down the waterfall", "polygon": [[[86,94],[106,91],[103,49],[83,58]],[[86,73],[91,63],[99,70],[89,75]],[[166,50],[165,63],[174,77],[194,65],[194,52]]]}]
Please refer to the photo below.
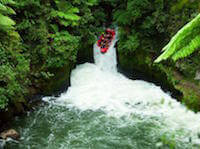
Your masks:
[{"label": "red raft full of people tipping down the waterfall", "polygon": [[97,46],[100,47],[101,53],[106,53],[115,38],[115,30],[106,29],[105,34],[102,34],[97,41]]}]

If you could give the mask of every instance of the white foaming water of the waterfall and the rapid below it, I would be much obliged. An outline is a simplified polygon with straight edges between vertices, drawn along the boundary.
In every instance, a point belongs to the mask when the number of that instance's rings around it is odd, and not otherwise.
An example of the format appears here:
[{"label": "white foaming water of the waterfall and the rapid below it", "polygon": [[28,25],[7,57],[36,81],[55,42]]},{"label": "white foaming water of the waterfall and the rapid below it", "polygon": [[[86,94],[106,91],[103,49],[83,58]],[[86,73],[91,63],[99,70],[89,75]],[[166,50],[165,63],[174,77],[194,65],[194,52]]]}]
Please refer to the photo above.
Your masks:
[{"label": "white foaming water of the waterfall and the rapid below it", "polygon": [[[119,127],[135,125],[137,119],[134,120],[134,117],[154,121],[155,127],[158,127],[155,134],[166,132],[170,134],[168,137],[198,146],[200,114],[188,110],[159,86],[141,80],[130,80],[118,73],[115,42],[116,40],[105,54],[101,54],[95,44],[95,64],[78,65],[71,73],[71,86],[67,92],[54,101],[50,97],[45,97],[44,100],[82,112],[103,111],[107,117],[125,119]],[[161,145],[162,143],[157,144]]]}]

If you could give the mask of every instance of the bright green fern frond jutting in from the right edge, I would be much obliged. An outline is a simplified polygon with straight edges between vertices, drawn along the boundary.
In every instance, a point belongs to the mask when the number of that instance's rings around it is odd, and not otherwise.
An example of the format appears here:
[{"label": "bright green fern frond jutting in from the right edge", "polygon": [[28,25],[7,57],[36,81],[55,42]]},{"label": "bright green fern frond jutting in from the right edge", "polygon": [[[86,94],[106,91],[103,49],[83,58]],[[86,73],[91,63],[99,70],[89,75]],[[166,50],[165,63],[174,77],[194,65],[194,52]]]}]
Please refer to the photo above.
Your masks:
[{"label": "bright green fern frond jutting in from the right edge", "polygon": [[164,53],[162,53],[155,62],[158,63],[171,57],[178,49],[183,49],[187,44],[192,43],[192,40],[195,39],[195,36],[198,36],[198,34],[200,34],[200,14],[172,37],[170,42],[162,49]]}]

